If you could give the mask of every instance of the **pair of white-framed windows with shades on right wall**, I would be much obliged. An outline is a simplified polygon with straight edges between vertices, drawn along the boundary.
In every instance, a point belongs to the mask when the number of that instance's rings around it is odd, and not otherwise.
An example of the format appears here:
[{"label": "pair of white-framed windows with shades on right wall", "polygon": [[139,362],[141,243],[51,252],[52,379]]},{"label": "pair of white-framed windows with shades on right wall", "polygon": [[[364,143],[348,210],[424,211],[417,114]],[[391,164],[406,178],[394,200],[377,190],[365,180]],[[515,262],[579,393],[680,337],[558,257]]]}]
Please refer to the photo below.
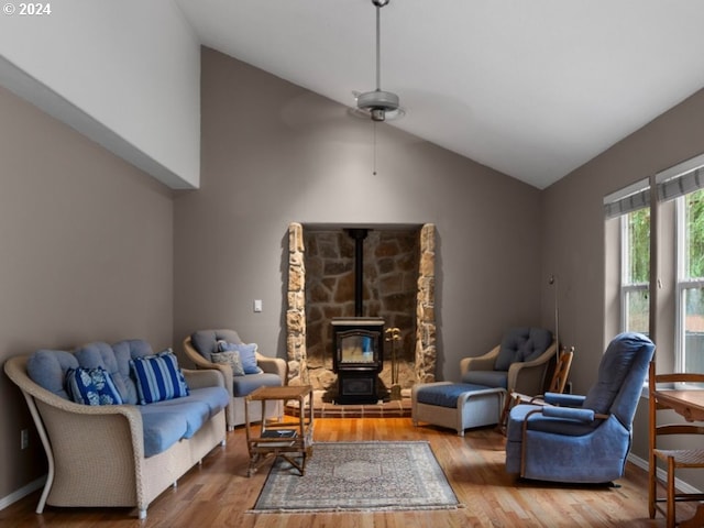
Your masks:
[{"label": "pair of white-framed windows with shades on right wall", "polygon": [[648,334],[660,370],[704,372],[704,154],[605,197],[604,211],[606,336]]}]

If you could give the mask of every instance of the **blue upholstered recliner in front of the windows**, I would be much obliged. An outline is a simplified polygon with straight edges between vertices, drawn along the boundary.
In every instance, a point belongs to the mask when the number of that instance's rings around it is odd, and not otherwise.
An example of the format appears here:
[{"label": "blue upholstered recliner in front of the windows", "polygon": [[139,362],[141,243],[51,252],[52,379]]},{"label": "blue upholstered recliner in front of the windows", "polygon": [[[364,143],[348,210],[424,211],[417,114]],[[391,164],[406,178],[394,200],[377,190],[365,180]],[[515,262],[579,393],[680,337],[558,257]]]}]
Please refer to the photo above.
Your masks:
[{"label": "blue upholstered recliner in front of the windows", "polygon": [[654,349],[642,334],[622,333],[606,349],[586,396],[549,393],[550,405],[514,407],[506,433],[506,471],[565,483],[622,477]]}]

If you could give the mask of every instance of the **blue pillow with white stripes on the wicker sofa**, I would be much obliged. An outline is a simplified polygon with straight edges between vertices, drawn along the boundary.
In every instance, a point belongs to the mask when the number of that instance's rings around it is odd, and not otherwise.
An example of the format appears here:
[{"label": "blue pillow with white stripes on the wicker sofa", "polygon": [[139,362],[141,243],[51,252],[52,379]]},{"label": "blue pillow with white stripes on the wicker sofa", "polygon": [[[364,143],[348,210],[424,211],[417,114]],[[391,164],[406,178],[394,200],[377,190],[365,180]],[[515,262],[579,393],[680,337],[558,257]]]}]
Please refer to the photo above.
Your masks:
[{"label": "blue pillow with white stripes on the wicker sofa", "polygon": [[141,405],[188,396],[188,385],[178,367],[178,359],[167,349],[155,355],[130,360]]}]

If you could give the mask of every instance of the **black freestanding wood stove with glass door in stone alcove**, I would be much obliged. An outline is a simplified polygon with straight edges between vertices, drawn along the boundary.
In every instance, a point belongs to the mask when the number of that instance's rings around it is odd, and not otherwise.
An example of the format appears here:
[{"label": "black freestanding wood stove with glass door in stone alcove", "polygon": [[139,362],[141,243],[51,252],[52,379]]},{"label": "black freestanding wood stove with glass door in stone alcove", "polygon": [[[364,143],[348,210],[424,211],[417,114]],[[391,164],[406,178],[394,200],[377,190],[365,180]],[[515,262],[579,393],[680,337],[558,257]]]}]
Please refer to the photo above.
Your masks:
[{"label": "black freestanding wood stove with glass door in stone alcove", "polygon": [[338,374],[338,404],[376,404],[384,367],[384,319],[332,319],[332,370]]}]

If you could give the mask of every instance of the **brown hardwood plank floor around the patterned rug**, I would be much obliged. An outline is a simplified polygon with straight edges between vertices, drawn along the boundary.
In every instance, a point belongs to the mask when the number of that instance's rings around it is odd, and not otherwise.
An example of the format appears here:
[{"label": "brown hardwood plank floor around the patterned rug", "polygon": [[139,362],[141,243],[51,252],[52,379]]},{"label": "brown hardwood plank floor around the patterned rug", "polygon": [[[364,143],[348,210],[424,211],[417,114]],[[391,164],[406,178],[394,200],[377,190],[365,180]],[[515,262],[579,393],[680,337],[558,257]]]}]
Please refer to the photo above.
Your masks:
[{"label": "brown hardwood plank floor around the patterned rug", "polygon": [[[244,430],[228,435],[228,446],[206,457],[156,498],[145,521],[129,508],[34,508],[38,492],[0,512],[0,526],[12,528],[426,528],[426,527],[663,527],[648,518],[647,474],[628,464],[620,487],[564,487],[517,481],[504,471],[504,437],[492,428],[470,430],[464,438],[431,426],[414,427],[410,418],[322,418],[316,441],[428,440],[464,505],[459,510],[251,514],[268,464],[246,476]],[[315,457],[315,453],[314,453]],[[99,468],[96,469],[99,471]],[[680,515],[693,514],[681,506]]]}]

